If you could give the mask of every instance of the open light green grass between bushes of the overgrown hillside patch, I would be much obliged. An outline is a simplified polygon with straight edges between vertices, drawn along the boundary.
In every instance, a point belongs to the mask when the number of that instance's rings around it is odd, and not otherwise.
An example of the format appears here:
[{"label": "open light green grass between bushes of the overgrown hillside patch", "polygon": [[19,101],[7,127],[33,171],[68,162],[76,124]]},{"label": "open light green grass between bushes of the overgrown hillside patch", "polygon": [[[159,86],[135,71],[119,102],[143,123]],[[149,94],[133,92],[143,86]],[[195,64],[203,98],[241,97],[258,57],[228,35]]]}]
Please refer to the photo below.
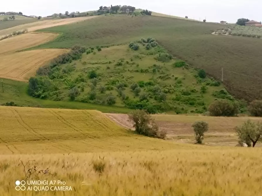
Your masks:
[{"label": "open light green grass between bushes of the overgrown hillside patch", "polygon": [[[155,48],[157,49],[157,48]],[[66,69],[67,66],[75,66],[75,71],[69,73],[68,75],[64,76],[65,79],[63,81],[71,81],[73,79],[74,81],[79,80],[80,75],[83,75],[85,73],[85,76],[82,76],[85,79],[85,89],[84,92],[81,92],[80,96],[77,98],[77,100],[81,100],[83,98],[88,97],[88,92],[90,91],[90,85],[91,81],[89,80],[88,73],[93,70],[97,69],[97,73],[99,74],[99,78],[101,80],[99,81],[97,85],[97,97],[101,97],[101,99],[106,99],[108,93],[112,93],[117,97],[116,106],[124,106],[125,104],[121,100],[121,97],[118,96],[118,93],[116,91],[116,85],[113,83],[114,81],[119,81],[119,83],[123,82],[128,85],[123,92],[126,94],[126,96],[129,97],[130,100],[139,100],[139,96],[135,97],[134,93],[131,91],[130,86],[134,82],[138,81],[144,81],[144,82],[153,82],[153,85],[151,88],[153,88],[155,85],[160,86],[161,90],[164,89],[172,89],[174,92],[166,93],[167,95],[167,102],[177,107],[176,112],[183,112],[187,111],[190,112],[191,110],[194,112],[195,109],[200,109],[206,104],[206,107],[214,101],[214,97],[212,97],[212,92],[222,89],[223,87],[208,87],[207,93],[201,94],[200,93],[200,87],[201,84],[197,84],[197,80],[194,77],[194,75],[197,75],[197,71],[190,69],[186,70],[184,68],[174,68],[172,64],[175,62],[175,60],[171,60],[167,63],[162,63],[160,61],[156,61],[154,59],[154,56],[156,55],[147,55],[150,52],[153,52],[154,48],[150,50],[146,50],[142,44],[140,44],[140,49],[138,51],[132,51],[129,49],[128,45],[121,45],[121,46],[113,46],[109,48],[103,48],[102,51],[97,52],[96,54],[83,54],[82,59],[78,61],[73,61],[72,63],[67,63],[65,65],[62,65],[62,69]],[[136,58],[138,56],[139,58]],[[117,62],[119,62],[119,59],[123,59],[123,66],[115,66]],[[130,61],[130,59],[133,59]],[[111,62],[109,64],[109,61]],[[126,61],[129,63],[127,64]],[[137,67],[137,64],[139,65]],[[160,66],[158,71],[154,74],[153,73],[153,65],[156,64],[157,66]],[[141,73],[141,69],[146,70],[148,69],[148,73]],[[81,78],[82,78],[81,77]],[[164,78],[164,79],[161,79]],[[177,77],[177,78],[176,78]],[[152,80],[154,78],[154,80]],[[176,79],[175,79],[176,78]],[[76,80],[77,79],[77,80]],[[57,79],[57,81],[61,81],[60,79]],[[179,83],[181,82],[181,84]],[[80,85],[81,82],[78,82]],[[107,90],[105,94],[100,94],[99,92],[99,86],[112,86],[114,87],[113,90]],[[63,100],[67,101],[69,98],[67,96],[68,87],[66,86],[66,82],[60,82],[60,91],[63,92],[61,97]],[[150,88],[150,87],[148,87]],[[190,105],[190,101],[187,102],[180,102],[179,100],[172,100],[175,99],[176,96],[182,95],[184,92],[189,92],[190,90],[195,89],[197,92],[191,93],[192,98],[187,97],[187,99],[193,100],[198,99],[198,101],[194,101],[195,104]],[[139,93],[139,95],[142,95],[143,93],[150,93],[149,90],[147,90],[147,87],[142,86],[142,91]],[[151,92],[152,94],[152,92]],[[154,97],[154,95],[152,95]],[[149,100],[151,103],[159,104],[159,102],[155,101],[154,98],[151,97]],[[193,98],[194,97],[194,98]],[[90,101],[90,100],[89,100]],[[201,102],[199,105],[197,102]],[[202,102],[204,104],[202,104]],[[183,109],[182,109],[183,108]],[[181,110],[182,109],[182,110]]]}]

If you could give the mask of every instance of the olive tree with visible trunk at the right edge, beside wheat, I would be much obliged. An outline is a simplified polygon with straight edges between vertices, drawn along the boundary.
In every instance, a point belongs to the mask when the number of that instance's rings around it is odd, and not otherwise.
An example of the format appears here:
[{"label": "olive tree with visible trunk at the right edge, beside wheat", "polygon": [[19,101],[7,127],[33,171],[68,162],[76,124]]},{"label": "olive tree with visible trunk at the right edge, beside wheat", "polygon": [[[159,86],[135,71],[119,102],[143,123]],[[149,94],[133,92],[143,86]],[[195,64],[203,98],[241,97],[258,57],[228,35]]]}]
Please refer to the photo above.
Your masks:
[{"label": "olive tree with visible trunk at the right edge, beside wheat", "polygon": [[235,128],[241,144],[246,143],[248,147],[255,147],[258,141],[262,141],[262,123],[253,123],[249,120]]}]

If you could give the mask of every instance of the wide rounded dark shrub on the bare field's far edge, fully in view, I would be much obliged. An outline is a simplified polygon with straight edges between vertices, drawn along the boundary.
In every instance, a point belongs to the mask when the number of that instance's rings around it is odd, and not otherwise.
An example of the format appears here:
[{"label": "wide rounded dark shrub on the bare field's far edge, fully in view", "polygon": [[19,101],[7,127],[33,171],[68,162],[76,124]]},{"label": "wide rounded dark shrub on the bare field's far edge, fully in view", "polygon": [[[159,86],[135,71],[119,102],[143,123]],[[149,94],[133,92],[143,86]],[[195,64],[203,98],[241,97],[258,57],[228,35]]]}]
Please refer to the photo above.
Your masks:
[{"label": "wide rounded dark shrub on the bare field's far edge, fully in view", "polygon": [[236,116],[239,113],[239,104],[226,99],[219,99],[209,105],[210,116]]}]

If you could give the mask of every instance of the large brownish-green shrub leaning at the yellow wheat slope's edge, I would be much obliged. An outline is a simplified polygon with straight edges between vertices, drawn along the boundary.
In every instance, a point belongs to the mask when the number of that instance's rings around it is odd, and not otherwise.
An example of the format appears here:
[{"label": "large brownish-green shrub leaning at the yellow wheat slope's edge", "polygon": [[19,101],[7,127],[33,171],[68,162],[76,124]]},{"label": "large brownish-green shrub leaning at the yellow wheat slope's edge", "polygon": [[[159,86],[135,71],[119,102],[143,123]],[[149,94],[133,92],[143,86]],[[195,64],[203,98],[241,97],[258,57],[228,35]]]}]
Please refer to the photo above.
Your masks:
[{"label": "large brownish-green shrub leaning at the yellow wheat slope's edge", "polygon": [[133,123],[136,133],[148,137],[164,139],[166,132],[160,131],[154,119],[145,110],[136,110],[129,114],[129,121]]}]

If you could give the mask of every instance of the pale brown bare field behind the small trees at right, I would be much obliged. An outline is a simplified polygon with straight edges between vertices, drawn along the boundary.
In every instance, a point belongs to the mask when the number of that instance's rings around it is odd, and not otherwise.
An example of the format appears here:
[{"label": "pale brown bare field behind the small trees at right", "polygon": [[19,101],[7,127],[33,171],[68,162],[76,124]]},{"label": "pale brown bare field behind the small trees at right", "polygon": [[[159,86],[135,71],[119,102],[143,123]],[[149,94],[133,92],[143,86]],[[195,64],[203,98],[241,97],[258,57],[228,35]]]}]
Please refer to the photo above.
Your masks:
[{"label": "pale brown bare field behind the small trees at right", "polygon": [[[133,129],[132,123],[128,121],[127,114],[107,114],[119,125]],[[194,143],[194,132],[192,124],[195,121],[205,121],[209,124],[209,130],[205,134],[206,144],[229,145],[237,144],[237,137],[234,128],[241,125],[247,119],[251,121],[262,121],[257,117],[212,117],[212,116],[185,116],[185,115],[153,115],[161,130],[166,130],[168,139],[180,142]],[[260,146],[260,145],[258,145]]]}]

